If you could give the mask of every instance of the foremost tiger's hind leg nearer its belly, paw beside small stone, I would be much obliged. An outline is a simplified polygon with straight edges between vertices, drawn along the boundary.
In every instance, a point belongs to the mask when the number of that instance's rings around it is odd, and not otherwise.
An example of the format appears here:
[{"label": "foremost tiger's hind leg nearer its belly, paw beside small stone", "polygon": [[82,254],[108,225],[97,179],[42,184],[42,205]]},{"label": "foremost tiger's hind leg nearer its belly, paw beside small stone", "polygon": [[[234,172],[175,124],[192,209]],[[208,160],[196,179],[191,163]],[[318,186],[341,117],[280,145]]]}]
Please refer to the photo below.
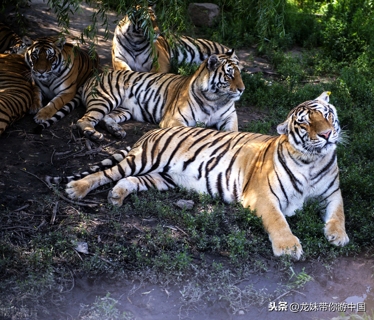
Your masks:
[{"label": "foremost tiger's hind leg nearer its belly, paw beside small stone", "polygon": [[151,187],[165,191],[174,189],[177,185],[172,182],[170,176],[165,173],[150,173],[144,176],[129,176],[117,182],[114,188],[108,193],[108,203],[122,206],[123,199],[134,191],[146,191]]}]

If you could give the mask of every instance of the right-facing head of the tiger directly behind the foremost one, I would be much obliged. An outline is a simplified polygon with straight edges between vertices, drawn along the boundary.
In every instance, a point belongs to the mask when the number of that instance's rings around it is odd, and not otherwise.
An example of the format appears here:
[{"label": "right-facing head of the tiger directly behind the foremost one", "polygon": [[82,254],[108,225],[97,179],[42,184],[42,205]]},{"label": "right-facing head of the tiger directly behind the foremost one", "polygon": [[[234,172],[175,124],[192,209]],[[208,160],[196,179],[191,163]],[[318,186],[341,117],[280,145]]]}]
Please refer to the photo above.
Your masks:
[{"label": "right-facing head of the tiger directly behind the foremost one", "polygon": [[218,98],[218,101],[224,103],[228,100],[236,101],[245,89],[234,49],[226,54],[210,55],[197,73],[203,76],[201,89],[208,99]]}]

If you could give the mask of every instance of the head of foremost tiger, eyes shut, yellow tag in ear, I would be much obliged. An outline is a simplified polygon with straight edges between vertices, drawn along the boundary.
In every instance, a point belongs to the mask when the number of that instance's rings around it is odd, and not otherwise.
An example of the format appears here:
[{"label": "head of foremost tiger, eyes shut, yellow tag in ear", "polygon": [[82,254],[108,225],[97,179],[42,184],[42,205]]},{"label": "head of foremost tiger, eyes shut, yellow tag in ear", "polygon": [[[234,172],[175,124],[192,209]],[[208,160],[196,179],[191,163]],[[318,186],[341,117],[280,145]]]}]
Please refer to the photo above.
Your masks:
[{"label": "head of foremost tiger, eyes shut, yellow tag in ear", "polygon": [[324,156],[335,150],[341,141],[336,109],[329,104],[331,92],[293,108],[287,120],[277,126],[281,135],[288,135],[289,143],[305,158]]}]

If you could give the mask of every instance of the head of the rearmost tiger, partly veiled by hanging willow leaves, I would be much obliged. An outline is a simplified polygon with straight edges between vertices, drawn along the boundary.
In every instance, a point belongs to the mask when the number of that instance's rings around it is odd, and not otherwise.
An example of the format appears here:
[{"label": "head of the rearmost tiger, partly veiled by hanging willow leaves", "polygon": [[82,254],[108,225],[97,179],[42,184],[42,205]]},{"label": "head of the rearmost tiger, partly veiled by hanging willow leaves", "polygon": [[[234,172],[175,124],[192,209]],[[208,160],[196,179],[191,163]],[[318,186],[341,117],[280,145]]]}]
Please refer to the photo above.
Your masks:
[{"label": "head of the rearmost tiger, partly veiled by hanging willow leaves", "polygon": [[155,7],[156,5],[153,5],[152,7],[147,7],[147,9],[144,9],[144,7],[142,6],[133,7],[131,18],[128,17],[126,21],[126,33],[131,37],[142,38],[146,41],[148,37],[146,33],[147,21],[145,19],[145,16],[148,16],[154,31],[154,41],[156,41],[156,39],[160,35],[160,29],[157,26],[157,18],[156,14],[154,13]]}]

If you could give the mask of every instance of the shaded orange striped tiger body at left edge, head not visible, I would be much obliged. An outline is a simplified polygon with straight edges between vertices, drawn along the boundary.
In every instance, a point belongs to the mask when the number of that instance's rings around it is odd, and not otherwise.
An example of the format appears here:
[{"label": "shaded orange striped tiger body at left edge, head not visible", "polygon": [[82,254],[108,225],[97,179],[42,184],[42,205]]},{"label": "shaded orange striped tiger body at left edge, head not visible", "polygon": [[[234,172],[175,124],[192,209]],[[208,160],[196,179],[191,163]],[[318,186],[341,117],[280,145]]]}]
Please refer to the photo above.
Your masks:
[{"label": "shaded orange striped tiger body at left edge, head not visible", "polygon": [[27,80],[28,71],[22,55],[0,53],[0,135],[25,113],[39,110],[40,90]]}]

